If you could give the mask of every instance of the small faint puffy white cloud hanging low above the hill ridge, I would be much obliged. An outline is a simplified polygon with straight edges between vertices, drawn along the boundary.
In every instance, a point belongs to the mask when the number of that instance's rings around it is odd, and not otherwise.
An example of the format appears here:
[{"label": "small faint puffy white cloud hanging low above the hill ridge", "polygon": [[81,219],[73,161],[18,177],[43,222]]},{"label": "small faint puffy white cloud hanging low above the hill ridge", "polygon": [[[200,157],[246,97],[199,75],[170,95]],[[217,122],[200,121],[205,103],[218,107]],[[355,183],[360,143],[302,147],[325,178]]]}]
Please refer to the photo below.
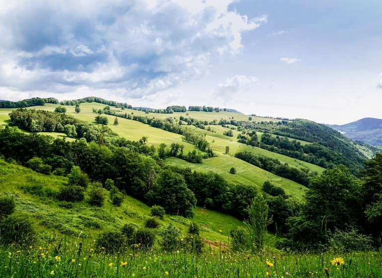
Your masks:
[{"label": "small faint puffy white cloud hanging low above the hill ridge", "polygon": [[245,92],[254,87],[257,83],[255,76],[235,75],[232,78],[227,78],[224,83],[216,85],[214,95],[225,101],[232,100],[232,97],[238,92]]}]

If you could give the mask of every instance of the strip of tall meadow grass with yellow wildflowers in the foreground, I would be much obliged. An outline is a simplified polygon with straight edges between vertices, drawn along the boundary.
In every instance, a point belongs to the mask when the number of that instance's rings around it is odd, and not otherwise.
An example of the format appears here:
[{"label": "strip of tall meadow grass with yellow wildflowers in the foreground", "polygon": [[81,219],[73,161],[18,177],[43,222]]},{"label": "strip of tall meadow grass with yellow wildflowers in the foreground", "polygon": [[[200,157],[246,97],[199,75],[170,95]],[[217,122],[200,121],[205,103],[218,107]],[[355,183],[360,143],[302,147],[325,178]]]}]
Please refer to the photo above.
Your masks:
[{"label": "strip of tall meadow grass with yellow wildflowers in the foreground", "polygon": [[[342,258],[341,265],[332,264]],[[381,277],[380,252],[287,255],[264,251],[257,255],[207,248],[202,255],[178,250],[117,254],[97,249],[91,239],[50,238],[41,245],[0,247],[0,277]]]}]

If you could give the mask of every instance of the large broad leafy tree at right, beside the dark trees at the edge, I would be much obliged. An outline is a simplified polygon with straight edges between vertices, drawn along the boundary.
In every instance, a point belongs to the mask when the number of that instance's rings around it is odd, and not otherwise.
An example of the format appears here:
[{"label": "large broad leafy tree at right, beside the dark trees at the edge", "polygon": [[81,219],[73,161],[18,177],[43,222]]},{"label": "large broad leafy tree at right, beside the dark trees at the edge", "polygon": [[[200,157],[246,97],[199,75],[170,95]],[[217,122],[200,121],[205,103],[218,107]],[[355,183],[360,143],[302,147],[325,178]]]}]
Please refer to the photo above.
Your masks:
[{"label": "large broad leafy tree at right, beside the dark trees at the edge", "polygon": [[318,248],[334,227],[357,227],[362,220],[361,186],[343,165],[310,179],[306,203],[298,216],[288,218],[289,237],[300,246]]}]

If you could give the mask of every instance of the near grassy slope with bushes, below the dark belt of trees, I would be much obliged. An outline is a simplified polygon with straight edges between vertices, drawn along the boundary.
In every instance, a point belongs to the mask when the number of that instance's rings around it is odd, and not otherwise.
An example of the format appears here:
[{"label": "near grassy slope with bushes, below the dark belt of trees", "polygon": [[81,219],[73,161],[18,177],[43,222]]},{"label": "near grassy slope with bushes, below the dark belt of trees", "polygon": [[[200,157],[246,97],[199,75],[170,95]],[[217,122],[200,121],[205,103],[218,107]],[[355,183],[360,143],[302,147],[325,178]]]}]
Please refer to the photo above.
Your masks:
[{"label": "near grassy slope with bushes, below the dark belt of trees", "polygon": [[[16,202],[15,213],[32,217],[40,233],[79,236],[82,232],[82,237],[94,238],[102,231],[126,223],[143,225],[150,214],[146,204],[128,195],[124,196],[121,207],[113,206],[109,199],[102,208],[90,206],[87,198],[77,203],[59,202],[54,196],[65,184],[66,177],[39,174],[0,159],[1,195],[12,196]],[[194,209],[193,221],[202,226],[201,236],[213,244],[218,244],[217,239],[226,242],[229,231],[243,226],[233,216],[200,207]],[[160,220],[161,225],[169,222],[186,231],[191,219],[166,215]]]}]

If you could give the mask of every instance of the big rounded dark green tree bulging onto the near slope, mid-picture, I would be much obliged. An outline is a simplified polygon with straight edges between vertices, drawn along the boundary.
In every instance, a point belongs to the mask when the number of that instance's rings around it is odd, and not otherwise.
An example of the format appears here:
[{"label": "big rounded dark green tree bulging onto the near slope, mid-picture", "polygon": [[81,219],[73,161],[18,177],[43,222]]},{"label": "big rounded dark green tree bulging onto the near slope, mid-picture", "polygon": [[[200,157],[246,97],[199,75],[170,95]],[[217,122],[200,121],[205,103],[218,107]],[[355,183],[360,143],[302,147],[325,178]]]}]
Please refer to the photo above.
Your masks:
[{"label": "big rounded dark green tree bulging onto the near slope, mid-picture", "polygon": [[187,188],[183,176],[169,169],[163,170],[158,176],[156,184],[146,194],[146,198],[151,204],[162,206],[168,214],[184,217],[192,217],[192,209],[196,205],[195,196]]}]

